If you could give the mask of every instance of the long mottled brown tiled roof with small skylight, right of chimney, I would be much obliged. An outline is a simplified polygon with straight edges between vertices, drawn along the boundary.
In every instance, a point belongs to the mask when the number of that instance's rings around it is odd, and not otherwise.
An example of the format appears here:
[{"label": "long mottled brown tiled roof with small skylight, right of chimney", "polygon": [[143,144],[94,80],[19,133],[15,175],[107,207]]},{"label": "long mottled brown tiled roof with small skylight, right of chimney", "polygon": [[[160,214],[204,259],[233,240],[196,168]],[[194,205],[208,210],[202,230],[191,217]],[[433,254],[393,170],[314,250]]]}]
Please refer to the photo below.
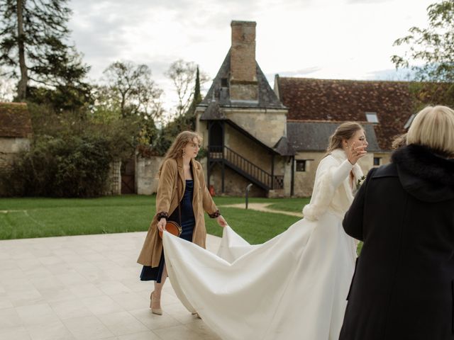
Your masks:
[{"label": "long mottled brown tiled roof with small skylight, right of chimney", "polygon": [[[377,113],[373,126],[378,146],[391,149],[394,136],[414,113],[414,99],[406,81],[355,81],[276,77],[279,99],[289,108],[288,120],[366,122],[366,112]],[[289,137],[292,141],[292,137]]]}]

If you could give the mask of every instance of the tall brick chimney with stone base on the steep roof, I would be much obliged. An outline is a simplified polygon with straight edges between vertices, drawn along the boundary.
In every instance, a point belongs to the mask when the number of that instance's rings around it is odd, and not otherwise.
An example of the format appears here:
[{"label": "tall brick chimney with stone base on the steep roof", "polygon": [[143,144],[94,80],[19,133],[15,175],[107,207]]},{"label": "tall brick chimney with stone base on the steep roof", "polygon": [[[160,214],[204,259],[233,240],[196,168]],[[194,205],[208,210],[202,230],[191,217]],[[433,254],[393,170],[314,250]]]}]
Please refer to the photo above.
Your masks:
[{"label": "tall brick chimney with stone base on the steep roof", "polygon": [[255,67],[255,21],[232,21],[231,101],[258,101]]}]

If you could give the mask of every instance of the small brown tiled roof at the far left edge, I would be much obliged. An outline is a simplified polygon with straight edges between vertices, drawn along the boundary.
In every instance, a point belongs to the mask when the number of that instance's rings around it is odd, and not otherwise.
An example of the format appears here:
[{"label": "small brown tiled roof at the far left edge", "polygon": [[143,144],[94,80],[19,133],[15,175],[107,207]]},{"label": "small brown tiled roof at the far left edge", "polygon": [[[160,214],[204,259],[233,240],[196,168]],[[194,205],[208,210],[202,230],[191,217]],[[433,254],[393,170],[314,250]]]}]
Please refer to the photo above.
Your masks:
[{"label": "small brown tiled roof at the far left edge", "polygon": [[0,103],[0,137],[28,138],[32,134],[26,103]]}]

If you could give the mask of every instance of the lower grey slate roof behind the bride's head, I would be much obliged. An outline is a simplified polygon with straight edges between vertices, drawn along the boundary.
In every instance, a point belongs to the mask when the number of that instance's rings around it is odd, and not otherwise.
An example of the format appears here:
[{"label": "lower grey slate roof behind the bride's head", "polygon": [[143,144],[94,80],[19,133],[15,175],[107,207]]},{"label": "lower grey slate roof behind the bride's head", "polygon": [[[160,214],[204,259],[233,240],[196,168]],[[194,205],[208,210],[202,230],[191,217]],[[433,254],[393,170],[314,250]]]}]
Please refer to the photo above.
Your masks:
[{"label": "lower grey slate roof behind the bride's head", "polygon": [[[287,120],[287,138],[295,151],[324,151],[328,147],[329,137],[341,122]],[[377,137],[372,124],[362,124],[368,151],[379,151]]]}]

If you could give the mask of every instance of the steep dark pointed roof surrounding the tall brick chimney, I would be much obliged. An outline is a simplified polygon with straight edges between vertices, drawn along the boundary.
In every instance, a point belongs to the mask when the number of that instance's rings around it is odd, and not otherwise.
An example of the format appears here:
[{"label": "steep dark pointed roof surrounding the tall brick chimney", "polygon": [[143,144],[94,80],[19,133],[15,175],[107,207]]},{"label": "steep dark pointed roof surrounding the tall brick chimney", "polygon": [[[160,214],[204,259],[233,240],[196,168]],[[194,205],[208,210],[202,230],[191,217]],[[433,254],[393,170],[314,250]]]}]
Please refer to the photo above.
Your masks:
[{"label": "steep dark pointed roof surrounding the tall brick chimney", "polygon": [[[210,103],[216,102],[218,106],[229,107],[229,108],[281,108],[284,106],[277,98],[275,92],[271,89],[265,74],[256,63],[257,68],[257,81],[258,81],[258,103],[254,102],[231,102],[228,94],[228,88],[222,88],[221,79],[228,79],[230,74],[230,50],[228,51],[226,58],[224,59],[221,68],[216,74],[216,77],[211,84],[211,87],[206,94],[205,98],[199,106],[209,106]],[[205,119],[209,119],[209,116],[205,115]],[[218,118],[217,118],[218,119]]]}]

